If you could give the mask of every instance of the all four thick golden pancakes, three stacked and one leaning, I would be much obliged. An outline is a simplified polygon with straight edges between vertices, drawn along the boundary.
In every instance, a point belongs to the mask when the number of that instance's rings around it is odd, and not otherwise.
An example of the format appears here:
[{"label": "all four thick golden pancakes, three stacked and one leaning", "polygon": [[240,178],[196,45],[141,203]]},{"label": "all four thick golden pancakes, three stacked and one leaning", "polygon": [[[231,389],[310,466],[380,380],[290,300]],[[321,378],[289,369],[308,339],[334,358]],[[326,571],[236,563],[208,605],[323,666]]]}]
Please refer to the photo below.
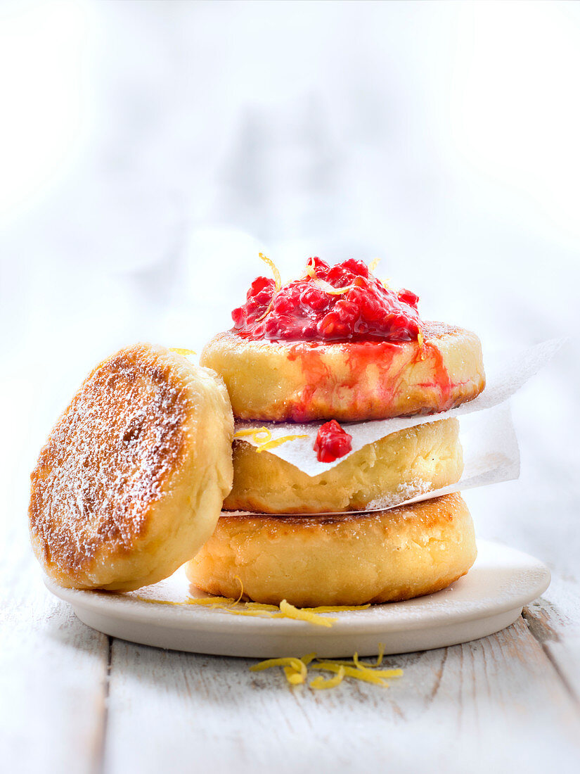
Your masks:
[{"label": "all four thick golden pancakes, three stacked and one leaning", "polygon": [[481,392],[474,334],[423,324],[423,336],[296,343],[230,331],[210,341],[202,366],[149,344],[107,358],[32,471],[30,532],[46,574],[129,591],[187,562],[210,594],[237,597],[242,584],[245,598],[301,607],[449,585],[476,557],[460,495],[387,508],[459,480],[456,420],[392,433],[313,477],[234,441],[234,417],[382,420],[435,414]]}]

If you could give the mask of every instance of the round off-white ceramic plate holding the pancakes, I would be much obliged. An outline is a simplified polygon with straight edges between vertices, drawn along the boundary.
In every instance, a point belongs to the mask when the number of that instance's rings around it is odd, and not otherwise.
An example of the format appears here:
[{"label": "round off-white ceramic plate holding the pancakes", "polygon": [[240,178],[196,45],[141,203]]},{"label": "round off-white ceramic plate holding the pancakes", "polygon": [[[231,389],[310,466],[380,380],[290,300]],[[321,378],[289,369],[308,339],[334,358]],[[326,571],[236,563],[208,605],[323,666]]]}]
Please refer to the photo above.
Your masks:
[{"label": "round off-white ceramic plate holding the pancakes", "polygon": [[367,610],[329,614],[329,628],[287,618],[231,615],[201,605],[173,607],[141,597],[184,601],[195,594],[183,568],[162,583],[128,594],[77,591],[45,580],[49,591],[70,602],[78,618],[107,635],[145,645],[217,656],[270,658],[315,651],[332,658],[428,650],[469,642],[512,624],[550,584],[550,570],[527,553],[478,541],[469,573],[445,591]]}]

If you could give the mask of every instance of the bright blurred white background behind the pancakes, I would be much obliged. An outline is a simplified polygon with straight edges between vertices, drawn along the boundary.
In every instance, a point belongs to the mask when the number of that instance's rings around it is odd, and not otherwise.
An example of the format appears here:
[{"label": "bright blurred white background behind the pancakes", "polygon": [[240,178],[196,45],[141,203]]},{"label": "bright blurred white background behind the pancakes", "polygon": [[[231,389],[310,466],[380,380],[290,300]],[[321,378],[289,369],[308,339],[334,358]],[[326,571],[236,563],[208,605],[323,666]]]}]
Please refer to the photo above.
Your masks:
[{"label": "bright blurred white background behind the pancakes", "polygon": [[513,399],[520,480],[466,496],[560,594],[580,555],[578,83],[578,2],[0,0],[5,556],[27,550],[29,470],[97,361],[199,352],[260,250],[287,279],[309,255],[379,257],[484,353],[571,337]]}]

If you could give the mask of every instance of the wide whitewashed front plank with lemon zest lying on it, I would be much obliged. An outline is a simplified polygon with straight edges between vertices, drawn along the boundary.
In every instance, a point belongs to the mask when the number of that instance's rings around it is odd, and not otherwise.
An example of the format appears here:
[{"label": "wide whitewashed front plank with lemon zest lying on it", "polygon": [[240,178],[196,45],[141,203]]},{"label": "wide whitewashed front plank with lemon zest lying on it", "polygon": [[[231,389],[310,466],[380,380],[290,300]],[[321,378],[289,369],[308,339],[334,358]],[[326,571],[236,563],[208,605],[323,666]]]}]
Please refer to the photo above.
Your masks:
[{"label": "wide whitewashed front plank with lemon zest lying on it", "polygon": [[[160,652],[115,641],[106,774],[184,762],[213,772],[449,772],[580,762],[580,712],[520,619],[465,646],[391,657],[405,674],[384,690],[346,683],[290,688],[250,661]],[[546,730],[548,729],[548,733]],[[533,745],[531,745],[533,741]]]}]

